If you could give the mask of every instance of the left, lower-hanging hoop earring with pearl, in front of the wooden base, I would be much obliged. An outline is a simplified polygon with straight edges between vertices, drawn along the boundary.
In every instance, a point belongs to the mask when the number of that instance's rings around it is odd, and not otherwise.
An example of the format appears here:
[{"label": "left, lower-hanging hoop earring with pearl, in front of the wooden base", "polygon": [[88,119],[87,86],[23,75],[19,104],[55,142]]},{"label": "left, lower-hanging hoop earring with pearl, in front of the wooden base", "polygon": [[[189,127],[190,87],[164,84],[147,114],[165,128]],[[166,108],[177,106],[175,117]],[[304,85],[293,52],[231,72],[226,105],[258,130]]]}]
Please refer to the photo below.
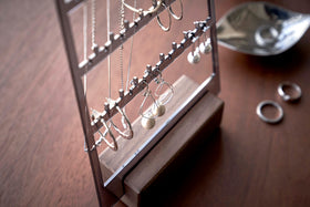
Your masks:
[{"label": "left, lower-hanging hoop earring with pearl, in front of the wooden base", "polygon": [[155,121],[156,115],[153,113],[153,108],[148,110],[146,113],[143,112],[143,106],[144,106],[144,104],[145,104],[145,102],[148,97],[152,99],[152,101],[153,101],[153,103],[155,104],[156,107],[158,107],[158,104],[156,103],[155,99],[153,97],[152,92],[148,89],[148,84],[145,81],[144,81],[144,84],[146,84],[146,91],[143,93],[144,100],[143,100],[141,106],[140,106],[138,113],[142,117],[141,118],[141,125],[146,130],[151,130],[156,124],[156,121]]}]

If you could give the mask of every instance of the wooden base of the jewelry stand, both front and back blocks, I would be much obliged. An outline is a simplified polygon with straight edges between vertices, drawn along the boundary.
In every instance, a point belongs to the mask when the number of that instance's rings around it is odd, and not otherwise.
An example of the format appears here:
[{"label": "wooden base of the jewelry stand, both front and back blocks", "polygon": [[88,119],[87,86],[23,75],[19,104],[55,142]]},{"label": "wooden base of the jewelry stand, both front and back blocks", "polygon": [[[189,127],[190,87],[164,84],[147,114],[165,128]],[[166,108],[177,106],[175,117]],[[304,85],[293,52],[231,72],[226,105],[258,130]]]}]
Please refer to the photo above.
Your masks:
[{"label": "wooden base of the jewelry stand, both front and back blocks", "polygon": [[[173,103],[169,103],[172,107],[170,113],[174,111],[174,105],[182,103],[183,99],[187,97],[188,93],[193,93],[196,87],[197,83],[188,77],[182,77],[177,81],[177,84],[175,84],[177,93],[172,101]],[[114,188],[112,186],[110,190],[115,195],[121,195],[120,190],[117,192],[120,188],[117,185],[123,185],[122,189],[124,192],[121,197],[122,201],[128,206],[140,206],[143,200],[143,192],[145,192],[148,186],[156,183],[156,178],[165,172],[180,154],[189,153],[186,149],[189,148],[193,143],[197,142],[196,134],[202,130],[204,130],[204,133],[211,133],[211,131],[220,124],[223,108],[223,101],[211,93],[205,94],[164,138],[161,139],[148,154],[141,158],[140,163],[132,168],[131,172],[120,178],[122,184],[116,183],[116,187]],[[168,107],[167,112],[169,112]],[[165,116],[169,117],[168,114],[165,114]],[[161,124],[157,127],[159,128]],[[133,128],[134,132],[140,132],[135,133],[135,137],[132,139],[134,142],[118,139],[122,146],[118,153],[115,154],[106,149],[100,155],[104,178],[115,173],[120,162],[125,162],[125,158],[132,156],[136,147],[140,147],[136,143],[144,142],[146,134],[152,133],[141,128],[140,118],[134,122]]]}]

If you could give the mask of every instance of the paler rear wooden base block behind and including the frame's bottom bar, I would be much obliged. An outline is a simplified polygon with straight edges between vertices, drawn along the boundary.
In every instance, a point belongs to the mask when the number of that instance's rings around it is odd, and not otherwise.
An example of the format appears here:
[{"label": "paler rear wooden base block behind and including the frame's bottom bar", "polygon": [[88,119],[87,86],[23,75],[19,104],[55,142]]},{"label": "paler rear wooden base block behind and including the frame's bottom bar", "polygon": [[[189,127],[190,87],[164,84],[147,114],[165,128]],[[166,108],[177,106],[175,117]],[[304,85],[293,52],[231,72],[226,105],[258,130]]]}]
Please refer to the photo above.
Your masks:
[{"label": "paler rear wooden base block behind and including the frame's bottom bar", "polygon": [[[184,112],[184,103],[199,85],[183,75],[174,83],[175,95],[166,104],[166,113],[156,118],[152,130],[141,125],[141,118],[132,123],[134,137],[130,141],[117,138],[118,151],[105,148],[100,155],[101,172],[105,187],[117,197],[124,194],[123,179],[131,168],[147,153],[177,122],[178,112]],[[176,115],[177,114],[177,115]]]}]

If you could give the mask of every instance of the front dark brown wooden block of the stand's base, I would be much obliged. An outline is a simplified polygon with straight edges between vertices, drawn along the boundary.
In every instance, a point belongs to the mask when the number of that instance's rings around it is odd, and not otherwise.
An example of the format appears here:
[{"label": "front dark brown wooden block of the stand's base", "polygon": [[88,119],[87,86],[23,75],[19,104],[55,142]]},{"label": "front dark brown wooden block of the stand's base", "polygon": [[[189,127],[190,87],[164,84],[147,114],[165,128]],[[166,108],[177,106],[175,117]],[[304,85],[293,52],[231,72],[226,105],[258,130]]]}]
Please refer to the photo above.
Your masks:
[{"label": "front dark brown wooden block of the stand's base", "polygon": [[[197,137],[202,138],[202,136],[196,136],[197,133],[204,131],[210,135],[219,126],[223,110],[223,101],[210,93],[206,94],[125,177],[125,195],[121,198],[122,201],[127,206],[152,204],[152,200],[143,199],[143,193],[154,185],[157,177],[179,156],[195,153],[188,152],[187,148],[199,143]],[[207,138],[207,135],[203,138]]]}]

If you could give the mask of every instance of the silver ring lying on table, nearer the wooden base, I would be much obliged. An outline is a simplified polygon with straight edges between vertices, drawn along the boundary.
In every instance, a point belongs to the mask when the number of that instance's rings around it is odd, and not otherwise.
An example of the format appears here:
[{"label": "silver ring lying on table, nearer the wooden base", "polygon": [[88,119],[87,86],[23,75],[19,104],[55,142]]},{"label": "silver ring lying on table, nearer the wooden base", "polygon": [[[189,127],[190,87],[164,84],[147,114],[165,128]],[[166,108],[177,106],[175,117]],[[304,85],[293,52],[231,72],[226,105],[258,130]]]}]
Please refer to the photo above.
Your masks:
[{"label": "silver ring lying on table, nearer the wooden base", "polygon": [[[279,112],[279,115],[276,118],[266,117],[262,114],[262,107],[265,107],[266,105],[271,105],[271,106],[276,107]],[[260,117],[260,120],[262,120],[264,122],[267,122],[269,124],[279,123],[283,118],[283,115],[285,115],[282,107],[278,103],[270,101],[270,100],[260,102],[256,107],[256,113]]]}]

